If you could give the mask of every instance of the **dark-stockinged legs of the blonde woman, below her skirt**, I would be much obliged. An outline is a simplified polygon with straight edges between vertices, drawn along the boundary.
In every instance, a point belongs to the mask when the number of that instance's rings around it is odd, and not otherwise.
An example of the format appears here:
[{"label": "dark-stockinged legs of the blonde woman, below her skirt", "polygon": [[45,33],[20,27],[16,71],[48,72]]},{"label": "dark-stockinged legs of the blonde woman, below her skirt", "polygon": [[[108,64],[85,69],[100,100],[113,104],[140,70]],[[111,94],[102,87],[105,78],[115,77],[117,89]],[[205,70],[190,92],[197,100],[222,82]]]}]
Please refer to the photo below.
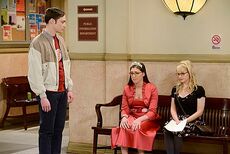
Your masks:
[{"label": "dark-stockinged legs of the blonde woman, below her skirt", "polygon": [[183,145],[183,138],[174,135],[172,132],[165,130],[164,144],[167,154],[179,154]]}]

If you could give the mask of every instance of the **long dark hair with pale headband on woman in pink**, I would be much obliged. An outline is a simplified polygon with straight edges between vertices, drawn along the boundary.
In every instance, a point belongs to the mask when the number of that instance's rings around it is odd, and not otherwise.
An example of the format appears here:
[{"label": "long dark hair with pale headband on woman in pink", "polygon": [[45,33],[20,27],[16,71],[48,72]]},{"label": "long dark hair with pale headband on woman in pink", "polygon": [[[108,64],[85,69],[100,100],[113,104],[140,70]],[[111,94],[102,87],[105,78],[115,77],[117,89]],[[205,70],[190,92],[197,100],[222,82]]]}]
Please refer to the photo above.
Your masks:
[{"label": "long dark hair with pale headband on woman in pink", "polygon": [[[129,68],[129,71],[131,71],[132,68],[137,68],[139,69],[141,72],[145,73],[145,76],[143,77],[143,81],[145,83],[149,83],[149,79],[148,79],[148,76],[147,76],[147,72],[146,72],[146,68],[145,68],[145,65],[143,63],[139,63],[139,62],[133,62]],[[129,82],[128,82],[128,85],[131,86],[133,85],[133,81],[131,79],[131,75],[129,76]]]}]

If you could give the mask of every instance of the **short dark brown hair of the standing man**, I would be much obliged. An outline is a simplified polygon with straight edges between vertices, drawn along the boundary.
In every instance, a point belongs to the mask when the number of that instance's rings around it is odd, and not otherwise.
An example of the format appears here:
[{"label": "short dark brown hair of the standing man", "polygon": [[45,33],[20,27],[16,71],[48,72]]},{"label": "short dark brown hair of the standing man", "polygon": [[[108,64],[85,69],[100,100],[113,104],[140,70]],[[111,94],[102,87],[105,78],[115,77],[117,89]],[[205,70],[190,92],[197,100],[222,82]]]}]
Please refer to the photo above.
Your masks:
[{"label": "short dark brown hair of the standing man", "polygon": [[54,19],[57,21],[59,18],[63,17],[65,15],[65,12],[56,8],[56,7],[51,7],[46,9],[46,14],[45,14],[45,23],[48,24],[50,19]]}]

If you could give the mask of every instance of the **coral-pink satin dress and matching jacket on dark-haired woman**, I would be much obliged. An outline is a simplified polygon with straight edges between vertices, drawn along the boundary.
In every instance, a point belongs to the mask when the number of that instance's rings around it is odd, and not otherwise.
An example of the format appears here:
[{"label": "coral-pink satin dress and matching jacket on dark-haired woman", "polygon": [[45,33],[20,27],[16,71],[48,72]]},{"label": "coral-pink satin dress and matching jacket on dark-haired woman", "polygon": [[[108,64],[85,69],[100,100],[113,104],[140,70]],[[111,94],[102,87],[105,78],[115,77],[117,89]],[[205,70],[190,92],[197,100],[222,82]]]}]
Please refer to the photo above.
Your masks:
[{"label": "coral-pink satin dress and matching jacket on dark-haired woman", "polygon": [[[119,146],[135,148],[144,151],[152,151],[154,138],[156,136],[157,130],[159,129],[159,124],[156,120],[159,117],[156,113],[158,94],[156,87],[153,84],[148,84],[143,85],[144,95],[142,94],[143,99],[141,100],[134,99],[134,87],[129,87],[128,89],[125,88],[121,112],[122,114],[129,115],[129,125],[131,125],[135,119],[143,115],[147,115],[149,120],[143,121],[141,123],[140,129],[137,129],[136,131],[132,131],[131,129],[123,129],[120,127],[113,128],[111,133],[112,148]],[[131,95],[133,98],[129,97]],[[148,96],[150,96],[149,99]],[[148,108],[148,112],[142,112],[143,108]]]}]

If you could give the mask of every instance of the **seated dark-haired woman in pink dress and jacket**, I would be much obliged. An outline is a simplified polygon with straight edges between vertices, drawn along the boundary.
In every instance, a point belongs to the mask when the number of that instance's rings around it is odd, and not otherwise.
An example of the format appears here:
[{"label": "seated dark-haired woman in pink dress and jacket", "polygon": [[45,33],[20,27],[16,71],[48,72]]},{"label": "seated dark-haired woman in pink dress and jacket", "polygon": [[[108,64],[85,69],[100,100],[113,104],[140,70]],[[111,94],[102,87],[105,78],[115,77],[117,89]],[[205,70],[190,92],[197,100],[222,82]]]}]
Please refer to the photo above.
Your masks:
[{"label": "seated dark-haired woman in pink dress and jacket", "polygon": [[149,82],[143,63],[133,62],[129,74],[123,91],[120,127],[112,129],[111,145],[121,147],[122,154],[128,154],[128,148],[144,154],[144,151],[152,151],[160,127],[156,113],[158,92]]}]

